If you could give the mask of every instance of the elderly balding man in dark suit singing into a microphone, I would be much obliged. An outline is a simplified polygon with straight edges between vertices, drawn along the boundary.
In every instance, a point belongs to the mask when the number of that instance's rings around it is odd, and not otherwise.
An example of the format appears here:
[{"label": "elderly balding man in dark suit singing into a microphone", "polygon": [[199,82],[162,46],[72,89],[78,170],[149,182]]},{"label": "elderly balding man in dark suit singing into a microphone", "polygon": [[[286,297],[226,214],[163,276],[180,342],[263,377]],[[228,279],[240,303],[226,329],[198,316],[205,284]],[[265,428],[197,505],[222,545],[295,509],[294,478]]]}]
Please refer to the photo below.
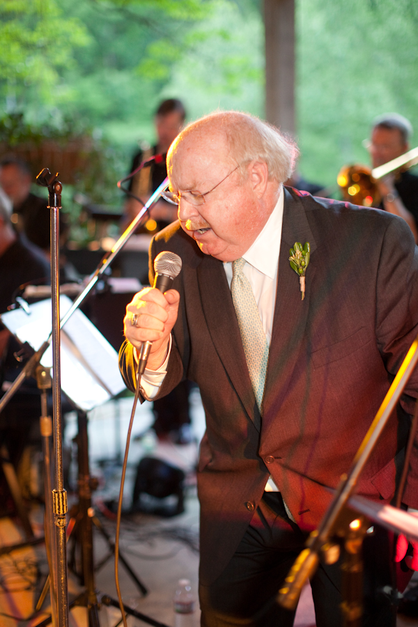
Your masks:
[{"label": "elderly balding man in dark suit singing into a microphone", "polygon": [[[270,125],[232,111],[180,132],[167,157],[178,222],[155,236],[150,258],[172,251],[183,269],[164,294],[135,295],[125,316],[121,370],[130,389],[148,340],[144,398],[182,378],[201,390],[205,627],[293,624],[277,591],[418,330],[408,226],[284,187],[296,152]],[[394,498],[417,392],[415,373],[358,493]],[[417,480],[415,449],[402,499],[415,508]],[[391,559],[376,527],[364,543],[364,625],[394,625],[383,589]],[[321,564],[311,587],[317,626],[342,624],[339,564]]]}]

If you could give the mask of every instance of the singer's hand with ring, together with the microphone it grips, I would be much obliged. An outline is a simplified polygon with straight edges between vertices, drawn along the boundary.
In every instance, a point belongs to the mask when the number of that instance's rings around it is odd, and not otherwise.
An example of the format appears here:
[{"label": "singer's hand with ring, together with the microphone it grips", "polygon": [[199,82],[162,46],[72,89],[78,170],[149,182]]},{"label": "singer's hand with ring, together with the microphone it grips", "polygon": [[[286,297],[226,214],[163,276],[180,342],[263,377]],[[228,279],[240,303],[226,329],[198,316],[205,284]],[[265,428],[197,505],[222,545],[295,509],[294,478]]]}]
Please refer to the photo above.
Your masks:
[{"label": "singer's hand with ring, together with the microphone it grips", "polygon": [[164,362],[180,300],[178,292],[170,289],[181,270],[180,257],[164,251],[155,258],[154,270],[153,288],[145,288],[134,296],[124,319],[125,337],[139,354],[140,375],[148,360],[151,370]]}]

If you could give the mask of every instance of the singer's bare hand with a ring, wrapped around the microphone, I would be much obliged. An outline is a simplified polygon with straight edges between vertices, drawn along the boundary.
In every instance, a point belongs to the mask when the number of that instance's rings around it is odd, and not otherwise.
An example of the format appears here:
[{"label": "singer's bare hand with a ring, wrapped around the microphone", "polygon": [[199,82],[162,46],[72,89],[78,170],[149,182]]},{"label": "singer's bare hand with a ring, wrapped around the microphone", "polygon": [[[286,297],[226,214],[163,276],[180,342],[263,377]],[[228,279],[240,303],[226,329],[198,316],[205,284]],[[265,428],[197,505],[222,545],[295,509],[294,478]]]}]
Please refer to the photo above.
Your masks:
[{"label": "singer's bare hand with a ring, wrapped around the microphone", "polygon": [[[141,344],[150,341],[147,368],[156,370],[167,357],[171,329],[177,320],[180,295],[176,290],[167,290],[162,294],[155,288],[145,288],[135,294],[126,307],[123,319],[125,337],[138,352]],[[132,316],[136,314],[136,325],[132,325]]]}]

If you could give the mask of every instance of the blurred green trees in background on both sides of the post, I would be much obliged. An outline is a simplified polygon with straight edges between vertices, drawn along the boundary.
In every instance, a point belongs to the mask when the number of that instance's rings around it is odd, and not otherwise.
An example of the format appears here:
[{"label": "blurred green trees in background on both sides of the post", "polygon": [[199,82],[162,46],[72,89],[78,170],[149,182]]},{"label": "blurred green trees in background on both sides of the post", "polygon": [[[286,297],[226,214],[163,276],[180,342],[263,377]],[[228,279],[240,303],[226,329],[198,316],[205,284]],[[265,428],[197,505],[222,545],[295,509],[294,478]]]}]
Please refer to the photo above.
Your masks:
[{"label": "blurred green trees in background on both sides of the post", "polygon": [[[86,172],[84,191],[120,203],[116,180],[137,141],[155,139],[162,98],[183,100],[189,120],[217,108],[264,115],[262,6],[0,0],[1,109],[24,113],[0,132],[88,132],[112,165]],[[369,163],[362,140],[375,116],[398,111],[418,128],[418,2],[296,0],[296,10],[300,171],[330,185],[343,164]]]}]

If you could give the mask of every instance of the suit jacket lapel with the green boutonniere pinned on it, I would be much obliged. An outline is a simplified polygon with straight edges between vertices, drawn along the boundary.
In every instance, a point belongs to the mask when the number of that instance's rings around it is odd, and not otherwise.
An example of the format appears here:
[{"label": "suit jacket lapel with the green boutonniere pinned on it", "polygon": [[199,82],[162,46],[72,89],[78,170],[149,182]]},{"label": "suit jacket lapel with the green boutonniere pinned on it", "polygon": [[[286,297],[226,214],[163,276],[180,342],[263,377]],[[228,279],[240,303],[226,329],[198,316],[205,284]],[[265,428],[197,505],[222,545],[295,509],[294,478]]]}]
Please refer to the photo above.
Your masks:
[{"label": "suit jacket lapel with the green boutonniere pinned on it", "polygon": [[[284,189],[284,217],[281,232],[277,294],[274,307],[272,340],[263,401],[263,428],[277,417],[291,380],[309,312],[311,283],[315,274],[316,242],[300,199]],[[302,300],[297,274],[288,261],[295,242],[309,242],[311,261],[306,274],[306,293]]]}]

